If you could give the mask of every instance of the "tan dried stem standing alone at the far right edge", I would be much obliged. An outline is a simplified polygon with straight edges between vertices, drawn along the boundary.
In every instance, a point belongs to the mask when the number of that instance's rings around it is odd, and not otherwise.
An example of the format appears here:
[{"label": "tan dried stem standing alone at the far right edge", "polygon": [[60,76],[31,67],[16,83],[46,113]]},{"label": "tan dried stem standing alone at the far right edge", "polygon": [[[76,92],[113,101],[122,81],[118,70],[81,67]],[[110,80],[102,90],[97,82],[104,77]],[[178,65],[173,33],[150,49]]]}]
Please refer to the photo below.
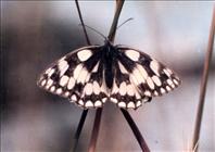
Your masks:
[{"label": "tan dried stem standing alone at the far right edge", "polygon": [[201,90],[200,90],[200,99],[199,99],[199,105],[197,111],[197,119],[195,119],[195,126],[194,126],[194,135],[193,135],[193,141],[192,141],[192,151],[198,151],[199,147],[199,138],[200,138],[200,129],[201,129],[201,123],[202,123],[202,115],[203,115],[203,109],[204,109],[204,98],[206,92],[206,83],[208,78],[208,69],[210,69],[210,63],[212,59],[212,52],[214,47],[214,35],[215,35],[215,5],[213,9],[213,15],[212,15],[212,25],[211,25],[211,31],[208,37],[208,45],[207,45],[207,52],[204,60],[204,69],[203,69],[203,76],[201,80]]}]

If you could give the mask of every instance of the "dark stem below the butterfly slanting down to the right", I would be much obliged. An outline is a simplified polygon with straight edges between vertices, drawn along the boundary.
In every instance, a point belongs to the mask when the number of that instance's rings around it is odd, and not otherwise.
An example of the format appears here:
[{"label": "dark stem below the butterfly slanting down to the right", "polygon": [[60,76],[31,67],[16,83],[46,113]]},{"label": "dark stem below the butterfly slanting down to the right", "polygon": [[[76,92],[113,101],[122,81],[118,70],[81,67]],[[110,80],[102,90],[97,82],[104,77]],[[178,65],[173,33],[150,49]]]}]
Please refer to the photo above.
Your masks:
[{"label": "dark stem below the butterfly slanting down to the right", "polygon": [[147,142],[144,141],[140,130],[138,129],[137,125],[135,124],[135,122],[132,121],[132,117],[129,115],[129,113],[124,110],[124,109],[121,109],[122,113],[124,114],[126,121],[128,122],[130,128],[132,129],[132,132],[136,137],[136,139],[138,140],[138,143],[141,148],[141,150],[143,152],[150,152],[150,149],[149,147],[147,145]]}]

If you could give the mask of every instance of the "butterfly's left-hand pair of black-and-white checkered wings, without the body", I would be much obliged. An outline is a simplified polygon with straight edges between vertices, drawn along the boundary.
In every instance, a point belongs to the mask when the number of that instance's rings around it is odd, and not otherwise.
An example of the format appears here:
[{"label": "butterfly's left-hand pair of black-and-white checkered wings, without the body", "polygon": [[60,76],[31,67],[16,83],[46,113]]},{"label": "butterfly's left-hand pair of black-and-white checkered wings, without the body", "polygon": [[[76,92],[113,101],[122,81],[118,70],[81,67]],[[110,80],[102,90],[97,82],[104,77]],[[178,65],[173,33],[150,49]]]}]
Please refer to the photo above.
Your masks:
[{"label": "butterfly's left-hand pair of black-and-white checkered wings, without the body", "polygon": [[80,48],[53,63],[38,86],[84,109],[100,107],[106,101],[100,47]]}]

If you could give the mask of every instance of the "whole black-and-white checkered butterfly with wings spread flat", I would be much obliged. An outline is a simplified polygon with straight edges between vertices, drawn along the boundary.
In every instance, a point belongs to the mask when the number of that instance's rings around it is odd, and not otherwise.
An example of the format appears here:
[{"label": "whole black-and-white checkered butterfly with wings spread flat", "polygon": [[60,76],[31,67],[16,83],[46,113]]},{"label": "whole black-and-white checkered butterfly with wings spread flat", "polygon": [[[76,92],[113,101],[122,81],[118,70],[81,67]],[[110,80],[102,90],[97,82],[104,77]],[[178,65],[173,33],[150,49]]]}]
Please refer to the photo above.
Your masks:
[{"label": "whole black-and-white checkered butterfly with wings spread flat", "polygon": [[84,109],[111,101],[136,110],[180,83],[172,69],[144,52],[105,40],[103,46],[83,47],[64,55],[37,84]]}]

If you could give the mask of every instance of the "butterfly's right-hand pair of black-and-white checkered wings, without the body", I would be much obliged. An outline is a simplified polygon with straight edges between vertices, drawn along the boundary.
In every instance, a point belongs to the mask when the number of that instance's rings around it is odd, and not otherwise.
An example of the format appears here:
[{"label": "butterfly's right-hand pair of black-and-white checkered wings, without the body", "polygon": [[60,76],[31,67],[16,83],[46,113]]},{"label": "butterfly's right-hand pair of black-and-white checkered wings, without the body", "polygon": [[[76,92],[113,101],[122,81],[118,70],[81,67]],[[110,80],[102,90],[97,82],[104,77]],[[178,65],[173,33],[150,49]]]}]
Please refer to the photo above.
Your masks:
[{"label": "butterfly's right-hand pair of black-and-white checkered wings, without the body", "polygon": [[111,101],[119,107],[137,109],[180,84],[173,71],[148,54],[127,47],[117,49],[121,55],[115,65]]}]

